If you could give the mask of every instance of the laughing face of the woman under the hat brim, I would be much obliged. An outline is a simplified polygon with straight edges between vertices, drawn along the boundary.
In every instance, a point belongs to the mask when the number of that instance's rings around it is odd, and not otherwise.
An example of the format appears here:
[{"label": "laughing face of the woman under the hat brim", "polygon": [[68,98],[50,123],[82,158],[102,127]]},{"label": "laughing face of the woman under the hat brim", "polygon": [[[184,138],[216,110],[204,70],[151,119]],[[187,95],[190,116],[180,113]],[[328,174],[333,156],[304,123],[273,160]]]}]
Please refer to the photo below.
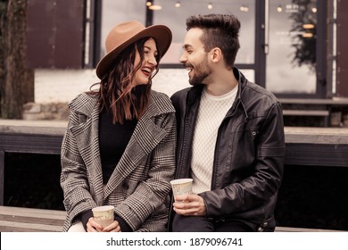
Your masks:
[{"label": "laughing face of the woman under the hat brim", "polygon": [[150,81],[153,71],[156,70],[157,46],[153,38],[149,38],[144,44],[144,62],[140,62],[140,54],[136,52],[134,64],[141,63],[140,69],[136,72],[133,79],[133,86],[145,85]]}]

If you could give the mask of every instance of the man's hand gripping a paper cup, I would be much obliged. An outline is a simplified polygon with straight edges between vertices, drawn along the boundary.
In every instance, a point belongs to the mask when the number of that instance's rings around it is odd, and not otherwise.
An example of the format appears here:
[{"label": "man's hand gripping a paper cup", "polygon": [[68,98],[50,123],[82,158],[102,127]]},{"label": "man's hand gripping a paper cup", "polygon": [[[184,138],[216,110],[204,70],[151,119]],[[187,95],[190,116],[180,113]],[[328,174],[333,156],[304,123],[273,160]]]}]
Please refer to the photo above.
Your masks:
[{"label": "man's hand gripping a paper cup", "polygon": [[174,211],[181,215],[204,216],[206,208],[201,196],[191,194],[175,196]]}]

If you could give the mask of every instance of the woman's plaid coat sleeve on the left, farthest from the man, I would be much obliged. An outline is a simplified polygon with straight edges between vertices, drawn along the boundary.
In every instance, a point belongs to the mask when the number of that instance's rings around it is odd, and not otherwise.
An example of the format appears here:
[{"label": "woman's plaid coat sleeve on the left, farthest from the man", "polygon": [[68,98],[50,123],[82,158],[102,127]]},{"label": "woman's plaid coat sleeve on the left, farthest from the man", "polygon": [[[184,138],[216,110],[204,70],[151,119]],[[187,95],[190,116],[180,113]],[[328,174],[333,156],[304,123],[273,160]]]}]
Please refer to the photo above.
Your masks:
[{"label": "woman's plaid coat sleeve on the left, farthest from the man", "polygon": [[64,196],[63,204],[70,223],[77,218],[80,212],[96,206],[89,192],[86,165],[79,154],[76,138],[70,132],[70,128],[78,124],[79,114],[71,111],[61,149],[62,172],[60,181]]}]

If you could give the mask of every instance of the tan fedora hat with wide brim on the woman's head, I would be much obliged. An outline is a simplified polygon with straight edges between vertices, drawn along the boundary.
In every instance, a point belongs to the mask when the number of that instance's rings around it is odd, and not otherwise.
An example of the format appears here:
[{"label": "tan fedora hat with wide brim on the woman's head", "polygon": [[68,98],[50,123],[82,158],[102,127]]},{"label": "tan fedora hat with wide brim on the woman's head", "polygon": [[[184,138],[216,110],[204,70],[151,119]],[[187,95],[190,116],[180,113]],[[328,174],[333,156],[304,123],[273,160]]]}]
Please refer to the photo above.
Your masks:
[{"label": "tan fedora hat with wide brim on the woman's head", "polygon": [[127,21],[116,25],[106,37],[106,54],[96,65],[97,77],[103,79],[116,56],[127,46],[144,37],[155,39],[161,56],[167,52],[172,38],[170,29],[164,25],[153,25],[145,28],[139,21]]}]

